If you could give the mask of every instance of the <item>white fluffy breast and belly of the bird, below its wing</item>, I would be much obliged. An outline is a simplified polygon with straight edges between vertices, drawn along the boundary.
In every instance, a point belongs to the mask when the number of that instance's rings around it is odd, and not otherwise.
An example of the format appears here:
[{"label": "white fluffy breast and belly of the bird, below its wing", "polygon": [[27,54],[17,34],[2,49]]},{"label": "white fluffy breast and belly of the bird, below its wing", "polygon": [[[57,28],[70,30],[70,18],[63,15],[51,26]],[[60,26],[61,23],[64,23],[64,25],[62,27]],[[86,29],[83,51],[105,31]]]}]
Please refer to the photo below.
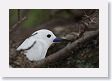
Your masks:
[{"label": "white fluffy breast and belly of the bird, below its wing", "polygon": [[37,61],[44,59],[46,56],[46,52],[47,52],[46,45],[41,40],[38,40],[36,41],[35,46],[33,46],[32,49],[27,50],[25,54],[29,60]]}]

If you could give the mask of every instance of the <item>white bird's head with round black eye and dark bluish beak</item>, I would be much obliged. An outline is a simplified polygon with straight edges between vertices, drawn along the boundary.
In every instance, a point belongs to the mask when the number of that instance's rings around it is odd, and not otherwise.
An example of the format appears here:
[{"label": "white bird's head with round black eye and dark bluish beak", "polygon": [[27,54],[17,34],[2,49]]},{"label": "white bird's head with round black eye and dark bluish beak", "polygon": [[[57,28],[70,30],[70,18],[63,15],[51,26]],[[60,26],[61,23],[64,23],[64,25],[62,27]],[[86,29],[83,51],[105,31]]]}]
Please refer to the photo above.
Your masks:
[{"label": "white bird's head with round black eye and dark bluish beak", "polygon": [[41,29],[32,34],[35,38],[46,41],[48,44],[62,42],[63,39],[56,37],[52,31],[47,29]]}]

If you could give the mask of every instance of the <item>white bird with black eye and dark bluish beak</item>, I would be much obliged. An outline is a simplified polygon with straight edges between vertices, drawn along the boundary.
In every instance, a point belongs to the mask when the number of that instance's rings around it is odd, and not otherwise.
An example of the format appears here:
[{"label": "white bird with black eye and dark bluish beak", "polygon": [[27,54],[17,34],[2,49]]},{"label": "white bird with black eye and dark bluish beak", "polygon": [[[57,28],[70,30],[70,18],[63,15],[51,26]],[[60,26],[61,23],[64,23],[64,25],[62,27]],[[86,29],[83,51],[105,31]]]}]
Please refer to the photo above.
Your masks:
[{"label": "white bird with black eye and dark bluish beak", "polygon": [[60,38],[47,29],[34,32],[18,48],[17,51],[24,50],[24,54],[30,61],[44,59],[48,48],[53,42],[60,42]]}]

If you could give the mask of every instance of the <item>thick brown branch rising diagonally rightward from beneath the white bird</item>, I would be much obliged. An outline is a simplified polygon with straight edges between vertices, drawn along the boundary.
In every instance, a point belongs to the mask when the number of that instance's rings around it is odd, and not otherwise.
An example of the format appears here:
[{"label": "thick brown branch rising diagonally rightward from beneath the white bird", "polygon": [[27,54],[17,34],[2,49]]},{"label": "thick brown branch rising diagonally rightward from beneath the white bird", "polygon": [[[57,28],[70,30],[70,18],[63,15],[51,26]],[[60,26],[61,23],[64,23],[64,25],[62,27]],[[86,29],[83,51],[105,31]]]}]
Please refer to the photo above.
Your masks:
[{"label": "thick brown branch rising diagonally rightward from beneath the white bird", "polygon": [[40,60],[38,62],[32,63],[30,65],[30,67],[31,68],[44,67],[47,64],[51,64],[51,63],[54,63],[54,62],[59,61],[61,59],[64,59],[64,58],[70,56],[70,52],[72,50],[78,50],[78,48],[77,48],[78,46],[83,45],[84,43],[86,43],[88,41],[92,41],[97,36],[99,36],[99,30],[86,32],[78,40],[74,41],[73,43],[68,44],[65,48],[59,50],[56,53],[51,54],[47,58]]}]

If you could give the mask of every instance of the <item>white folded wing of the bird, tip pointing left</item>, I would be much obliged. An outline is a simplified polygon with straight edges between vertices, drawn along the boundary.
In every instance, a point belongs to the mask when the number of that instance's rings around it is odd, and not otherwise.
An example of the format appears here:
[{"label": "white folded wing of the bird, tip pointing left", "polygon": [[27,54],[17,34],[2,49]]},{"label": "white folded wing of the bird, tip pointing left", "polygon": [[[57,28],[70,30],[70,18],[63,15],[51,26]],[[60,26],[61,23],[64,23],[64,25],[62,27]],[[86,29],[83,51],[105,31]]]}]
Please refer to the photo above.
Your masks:
[{"label": "white folded wing of the bird, tip pointing left", "polygon": [[31,48],[35,43],[36,43],[36,41],[34,40],[34,38],[29,37],[17,48],[17,51],[27,50],[27,49]]}]

